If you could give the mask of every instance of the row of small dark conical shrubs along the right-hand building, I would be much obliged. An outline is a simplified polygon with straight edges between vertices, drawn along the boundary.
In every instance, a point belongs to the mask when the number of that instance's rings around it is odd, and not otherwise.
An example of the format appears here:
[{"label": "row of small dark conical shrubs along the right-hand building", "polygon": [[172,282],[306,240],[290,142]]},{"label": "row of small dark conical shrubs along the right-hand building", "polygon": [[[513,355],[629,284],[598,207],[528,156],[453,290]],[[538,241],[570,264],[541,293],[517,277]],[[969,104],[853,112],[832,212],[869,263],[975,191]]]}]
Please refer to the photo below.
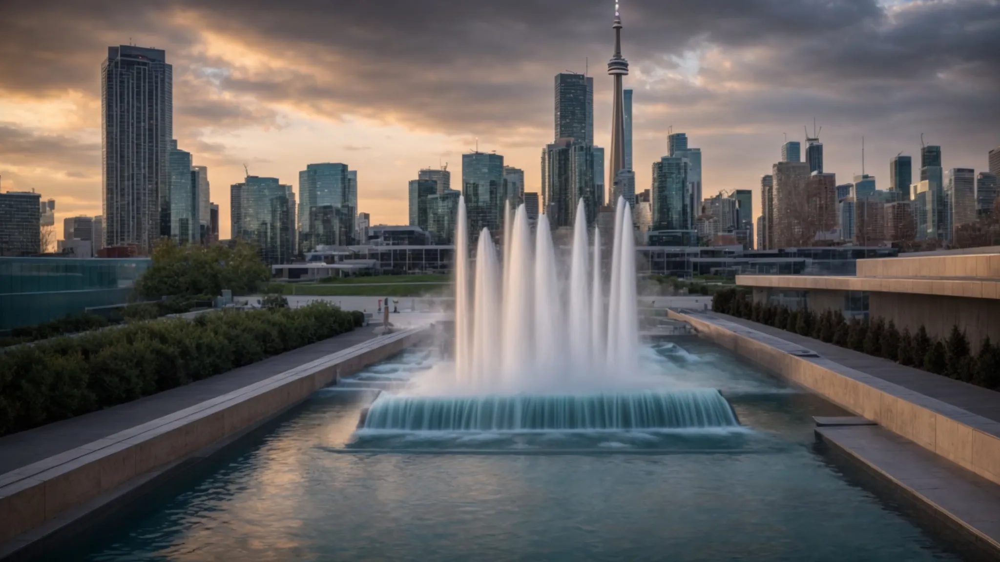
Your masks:
[{"label": "row of small dark conical shrubs along the right-hand building", "polygon": [[900,332],[891,320],[882,318],[847,320],[840,311],[816,314],[811,310],[793,310],[778,304],[753,303],[749,291],[726,289],[712,298],[712,310],[774,326],[799,335],[846,347],[868,355],[883,357],[901,365],[923,369],[938,375],[978,386],[1000,389],[1000,347],[985,338],[979,353],[973,355],[965,332],[952,326],[945,339],[932,338],[920,326],[915,333]]}]

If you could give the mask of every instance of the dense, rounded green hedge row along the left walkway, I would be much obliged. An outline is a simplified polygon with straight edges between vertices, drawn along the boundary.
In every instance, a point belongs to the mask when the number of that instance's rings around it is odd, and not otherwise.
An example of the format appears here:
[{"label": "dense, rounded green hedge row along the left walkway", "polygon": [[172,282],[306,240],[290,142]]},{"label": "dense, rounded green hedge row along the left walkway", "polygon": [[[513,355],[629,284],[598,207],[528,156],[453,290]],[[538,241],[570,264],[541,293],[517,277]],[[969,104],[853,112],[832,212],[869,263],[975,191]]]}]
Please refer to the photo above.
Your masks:
[{"label": "dense, rounded green hedge row along the left walkway", "polygon": [[0,435],[188,384],[350,331],[326,303],[223,310],[51,338],[0,353]]}]

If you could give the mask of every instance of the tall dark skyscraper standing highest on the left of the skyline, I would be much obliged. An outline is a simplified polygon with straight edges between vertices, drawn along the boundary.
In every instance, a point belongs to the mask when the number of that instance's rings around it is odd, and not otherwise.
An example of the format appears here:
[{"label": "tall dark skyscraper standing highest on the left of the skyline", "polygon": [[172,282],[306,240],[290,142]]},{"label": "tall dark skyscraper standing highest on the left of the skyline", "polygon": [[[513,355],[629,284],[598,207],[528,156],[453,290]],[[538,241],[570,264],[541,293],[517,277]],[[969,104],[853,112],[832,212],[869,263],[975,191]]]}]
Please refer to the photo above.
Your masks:
[{"label": "tall dark skyscraper standing highest on the left of the skyline", "polygon": [[108,47],[101,66],[104,235],[108,246],[148,254],[169,228],[168,151],[173,138],[173,67],[166,53]]}]

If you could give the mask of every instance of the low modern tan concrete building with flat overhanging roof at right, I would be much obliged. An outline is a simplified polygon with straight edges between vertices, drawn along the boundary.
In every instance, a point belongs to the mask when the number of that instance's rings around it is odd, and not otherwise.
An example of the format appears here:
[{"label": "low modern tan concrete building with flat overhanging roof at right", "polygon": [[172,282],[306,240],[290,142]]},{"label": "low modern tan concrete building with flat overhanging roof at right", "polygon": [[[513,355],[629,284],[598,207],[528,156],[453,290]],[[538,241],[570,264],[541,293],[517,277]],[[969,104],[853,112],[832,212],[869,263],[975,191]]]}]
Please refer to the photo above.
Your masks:
[{"label": "low modern tan concrete building with flat overhanging roof at right", "polygon": [[971,252],[861,259],[853,276],[737,275],[736,284],[751,287],[754,302],[882,318],[911,333],[924,326],[931,337],[958,326],[978,350],[987,336],[1000,341],[1000,247]]}]

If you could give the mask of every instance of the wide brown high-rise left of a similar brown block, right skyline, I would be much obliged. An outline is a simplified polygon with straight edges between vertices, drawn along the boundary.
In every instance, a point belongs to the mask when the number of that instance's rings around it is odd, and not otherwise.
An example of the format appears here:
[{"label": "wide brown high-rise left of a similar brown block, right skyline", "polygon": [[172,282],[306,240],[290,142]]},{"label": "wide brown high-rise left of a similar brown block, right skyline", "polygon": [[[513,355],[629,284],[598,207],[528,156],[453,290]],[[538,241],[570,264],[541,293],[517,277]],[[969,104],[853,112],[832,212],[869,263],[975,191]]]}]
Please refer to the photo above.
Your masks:
[{"label": "wide brown high-rise left of a similar brown block, right skyline", "polygon": [[774,247],[807,246],[815,236],[815,231],[807,224],[809,199],[806,182],[809,179],[809,164],[778,162],[774,165],[773,175]]}]

